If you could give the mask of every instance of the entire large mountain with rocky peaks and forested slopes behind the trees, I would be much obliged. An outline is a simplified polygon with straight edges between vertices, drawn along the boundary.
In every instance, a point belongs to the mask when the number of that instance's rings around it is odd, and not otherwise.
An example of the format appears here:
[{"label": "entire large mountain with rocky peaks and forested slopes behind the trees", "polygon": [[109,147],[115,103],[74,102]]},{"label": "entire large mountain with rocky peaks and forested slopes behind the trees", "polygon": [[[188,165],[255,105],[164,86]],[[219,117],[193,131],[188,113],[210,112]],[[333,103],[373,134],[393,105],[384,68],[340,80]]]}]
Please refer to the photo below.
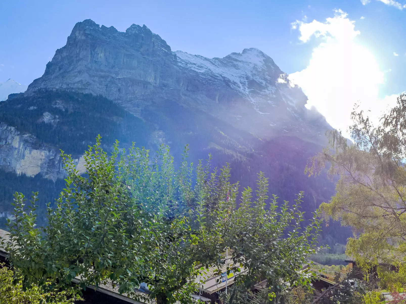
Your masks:
[{"label": "entire large mountain with rocky peaks and forested slopes behind the trees", "polygon": [[[303,174],[330,128],[306,102],[258,49],[209,59],[172,51],[145,25],[119,32],[88,19],[74,26],[42,77],[0,104],[0,167],[8,180],[32,176],[38,188],[57,193],[65,174],[59,149],[83,169],[81,155],[98,133],[106,149],[116,138],[152,150],[165,143],[178,158],[188,143],[191,161],[211,153],[214,165],[230,163],[232,180],[243,186],[255,186],[263,171],[271,193],[293,200],[303,190],[304,210],[313,211],[334,184]],[[18,183],[15,190],[32,188]],[[0,215],[11,200],[1,187]]]}]

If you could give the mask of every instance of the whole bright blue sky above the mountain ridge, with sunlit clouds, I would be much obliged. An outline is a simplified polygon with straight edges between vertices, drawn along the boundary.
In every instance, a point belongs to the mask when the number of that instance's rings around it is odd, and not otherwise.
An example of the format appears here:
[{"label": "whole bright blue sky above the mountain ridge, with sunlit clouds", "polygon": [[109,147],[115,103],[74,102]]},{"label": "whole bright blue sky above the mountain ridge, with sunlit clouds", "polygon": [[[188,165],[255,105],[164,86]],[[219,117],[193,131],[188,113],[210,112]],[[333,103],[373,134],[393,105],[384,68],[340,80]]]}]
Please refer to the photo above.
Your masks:
[{"label": "whole bright blue sky above the mountain ridge, with sunlit clouds", "polygon": [[[296,76],[292,82],[302,86],[309,106],[320,108],[327,117],[326,112],[335,111],[340,101],[345,100],[350,107],[355,97],[349,94],[358,98],[357,94],[362,96],[369,86],[376,92],[366,99],[375,98],[374,105],[406,90],[405,4],[406,0],[0,1],[0,82],[12,78],[29,84],[40,77],[55,50],[65,45],[76,22],[90,18],[120,31],[133,23],[145,24],[173,51],[210,58],[257,47],[283,71]],[[334,26],[349,26],[347,32],[337,34],[343,39],[334,36]],[[350,42],[346,35],[352,35]],[[336,44],[340,47],[333,50]],[[333,50],[331,56],[327,49]],[[342,58],[340,49],[350,51]],[[320,58],[314,57],[317,54]],[[364,65],[357,64],[360,58]],[[337,62],[332,69],[346,66],[348,73],[342,69],[326,71],[323,60]],[[320,73],[335,77],[315,77]],[[354,94],[354,83],[347,95],[336,96],[333,91],[345,91],[344,86],[349,86],[345,81],[340,84],[345,75],[348,81],[360,81],[361,89]],[[317,83],[317,79],[337,81],[338,85],[330,87],[329,83]],[[320,85],[326,88],[323,94],[318,90]],[[322,110],[322,103],[331,109]],[[338,123],[336,127],[343,128],[344,124]]]}]

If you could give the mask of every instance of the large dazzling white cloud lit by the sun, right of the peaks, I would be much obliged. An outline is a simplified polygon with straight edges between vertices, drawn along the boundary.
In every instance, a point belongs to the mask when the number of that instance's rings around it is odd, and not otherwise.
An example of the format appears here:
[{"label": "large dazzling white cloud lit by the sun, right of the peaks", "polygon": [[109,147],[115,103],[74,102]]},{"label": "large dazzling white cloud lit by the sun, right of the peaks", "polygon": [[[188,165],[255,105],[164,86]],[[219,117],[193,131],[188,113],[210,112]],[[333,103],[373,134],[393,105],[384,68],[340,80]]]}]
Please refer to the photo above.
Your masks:
[{"label": "large dazzling white cloud lit by the sun, right of the peaks", "polygon": [[306,43],[313,36],[321,39],[307,68],[289,75],[308,96],[308,108],[316,107],[334,128],[348,135],[355,103],[371,110],[375,121],[388,105],[394,105],[393,96],[378,97],[384,73],[374,55],[356,43],[355,37],[361,33],[346,13],[337,10],[325,22],[296,21],[294,25],[300,31],[300,41]]}]

